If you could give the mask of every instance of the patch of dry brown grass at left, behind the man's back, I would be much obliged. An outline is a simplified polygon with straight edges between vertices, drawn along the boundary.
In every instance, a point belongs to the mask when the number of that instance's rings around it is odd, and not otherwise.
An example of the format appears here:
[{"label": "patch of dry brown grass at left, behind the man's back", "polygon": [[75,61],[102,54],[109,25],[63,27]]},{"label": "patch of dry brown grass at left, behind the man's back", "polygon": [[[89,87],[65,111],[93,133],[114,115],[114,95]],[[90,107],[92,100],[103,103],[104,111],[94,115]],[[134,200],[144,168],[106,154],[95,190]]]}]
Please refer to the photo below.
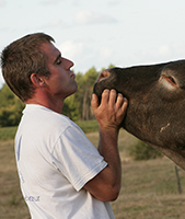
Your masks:
[{"label": "patch of dry brown grass at left, behind the man's back", "polygon": [[13,140],[0,141],[0,219],[28,219],[16,173]]}]

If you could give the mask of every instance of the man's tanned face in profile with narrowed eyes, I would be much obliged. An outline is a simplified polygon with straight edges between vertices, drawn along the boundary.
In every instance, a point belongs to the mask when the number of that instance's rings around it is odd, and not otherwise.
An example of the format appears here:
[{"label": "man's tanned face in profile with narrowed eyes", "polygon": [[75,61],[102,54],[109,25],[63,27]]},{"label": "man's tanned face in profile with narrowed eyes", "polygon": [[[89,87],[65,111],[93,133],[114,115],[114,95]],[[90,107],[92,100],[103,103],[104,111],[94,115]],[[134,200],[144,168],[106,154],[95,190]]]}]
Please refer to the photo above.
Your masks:
[{"label": "man's tanned face in profile with narrowed eyes", "polygon": [[60,51],[51,43],[45,43],[41,48],[46,55],[47,68],[50,72],[50,76],[45,78],[46,91],[50,97],[65,100],[78,88],[76,76],[70,70],[73,62],[62,58]]}]

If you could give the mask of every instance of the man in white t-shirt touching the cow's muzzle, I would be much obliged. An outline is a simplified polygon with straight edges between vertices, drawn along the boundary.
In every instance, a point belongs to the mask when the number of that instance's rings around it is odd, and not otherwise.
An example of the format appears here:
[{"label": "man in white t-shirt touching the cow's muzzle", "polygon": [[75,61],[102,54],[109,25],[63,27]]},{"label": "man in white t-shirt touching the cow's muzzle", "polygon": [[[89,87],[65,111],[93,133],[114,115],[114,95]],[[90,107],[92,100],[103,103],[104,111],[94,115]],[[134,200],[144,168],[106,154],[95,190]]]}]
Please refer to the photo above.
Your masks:
[{"label": "man in white t-shirt touching the cow's muzzle", "polygon": [[117,149],[127,100],[105,90],[92,96],[100,124],[99,150],[63,116],[65,99],[77,91],[73,62],[54,39],[26,35],[5,47],[1,67],[5,82],[26,106],[15,136],[15,157],[23,197],[33,219],[109,219],[108,201],[120,189]]}]

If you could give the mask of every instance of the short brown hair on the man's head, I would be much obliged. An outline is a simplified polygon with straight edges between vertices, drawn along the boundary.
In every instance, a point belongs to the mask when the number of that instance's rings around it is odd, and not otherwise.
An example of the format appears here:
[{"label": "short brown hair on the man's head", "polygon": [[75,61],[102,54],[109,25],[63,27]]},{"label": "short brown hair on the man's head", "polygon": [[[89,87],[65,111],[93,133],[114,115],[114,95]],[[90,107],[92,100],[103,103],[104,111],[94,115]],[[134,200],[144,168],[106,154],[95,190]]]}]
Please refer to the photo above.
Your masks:
[{"label": "short brown hair on the man's head", "polygon": [[2,74],[10,89],[23,101],[32,97],[33,72],[49,76],[46,56],[41,48],[43,43],[55,42],[44,33],[28,34],[7,46],[1,53]]}]

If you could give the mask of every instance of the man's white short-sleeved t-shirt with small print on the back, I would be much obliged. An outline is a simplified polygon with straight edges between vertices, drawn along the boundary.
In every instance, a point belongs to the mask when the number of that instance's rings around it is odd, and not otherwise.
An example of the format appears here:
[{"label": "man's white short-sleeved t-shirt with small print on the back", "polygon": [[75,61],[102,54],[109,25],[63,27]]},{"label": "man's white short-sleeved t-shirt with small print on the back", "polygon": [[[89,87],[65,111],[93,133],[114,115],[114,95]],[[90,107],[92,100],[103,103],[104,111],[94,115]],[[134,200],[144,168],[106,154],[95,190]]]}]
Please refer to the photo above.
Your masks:
[{"label": "man's white short-sleeved t-shirt with small print on the back", "polygon": [[68,117],[28,104],[16,137],[23,197],[33,219],[113,219],[109,203],[83,186],[107,163]]}]

